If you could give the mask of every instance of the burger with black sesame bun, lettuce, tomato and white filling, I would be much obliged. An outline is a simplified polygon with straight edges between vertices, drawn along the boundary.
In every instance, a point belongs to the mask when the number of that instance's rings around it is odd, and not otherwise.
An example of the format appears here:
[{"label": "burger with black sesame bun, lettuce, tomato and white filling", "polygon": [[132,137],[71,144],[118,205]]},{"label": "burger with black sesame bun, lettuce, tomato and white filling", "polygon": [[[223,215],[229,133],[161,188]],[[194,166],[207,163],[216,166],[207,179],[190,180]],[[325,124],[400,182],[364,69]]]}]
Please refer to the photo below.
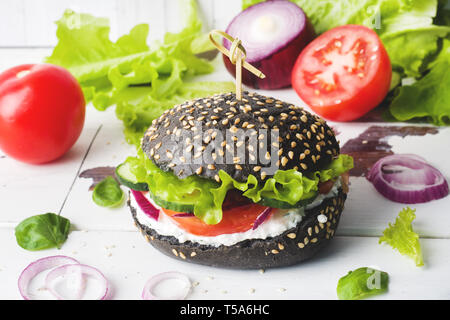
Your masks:
[{"label": "burger with black sesame bun, lettuce, tomato and white filling", "polygon": [[314,256],[333,238],[353,160],[303,108],[244,92],[187,101],[117,168],[136,226],[161,252],[227,268]]}]

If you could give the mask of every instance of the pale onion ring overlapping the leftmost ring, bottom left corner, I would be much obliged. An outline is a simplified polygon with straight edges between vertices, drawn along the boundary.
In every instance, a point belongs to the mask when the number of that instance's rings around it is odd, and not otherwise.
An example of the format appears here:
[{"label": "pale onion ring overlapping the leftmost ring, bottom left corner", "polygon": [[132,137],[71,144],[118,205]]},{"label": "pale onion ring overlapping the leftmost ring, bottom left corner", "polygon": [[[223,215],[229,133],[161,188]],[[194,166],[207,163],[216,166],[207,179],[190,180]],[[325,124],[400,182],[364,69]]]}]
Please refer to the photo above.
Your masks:
[{"label": "pale onion ring overlapping the leftmost ring, bottom left corner", "polygon": [[[45,278],[45,285],[47,289],[58,299],[65,300],[63,296],[61,296],[53,286],[53,282],[63,276],[75,275],[78,276],[90,276],[99,281],[101,285],[101,294],[98,298],[92,300],[105,300],[109,294],[109,282],[106,277],[101,273],[98,269],[87,266],[85,264],[66,264],[63,266],[59,266],[47,274]],[[83,281],[84,283],[84,281]],[[76,290],[77,298],[81,299],[82,292],[84,291],[84,286],[79,286],[79,289]]]}]

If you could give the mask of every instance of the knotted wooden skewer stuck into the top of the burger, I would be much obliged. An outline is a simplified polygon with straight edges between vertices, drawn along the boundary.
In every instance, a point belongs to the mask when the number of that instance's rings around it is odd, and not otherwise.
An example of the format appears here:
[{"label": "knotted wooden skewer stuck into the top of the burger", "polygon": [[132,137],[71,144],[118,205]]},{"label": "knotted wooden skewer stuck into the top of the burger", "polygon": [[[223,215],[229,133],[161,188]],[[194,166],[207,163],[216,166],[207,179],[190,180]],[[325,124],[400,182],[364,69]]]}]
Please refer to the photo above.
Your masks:
[{"label": "knotted wooden skewer stuck into the top of the burger", "polygon": [[[231,42],[230,50],[219,44],[214,39],[214,34],[219,34],[228,41]],[[236,99],[241,100],[242,99],[242,67],[253,73],[255,76],[264,79],[266,76],[264,73],[256,69],[254,66],[252,66],[250,63],[245,61],[246,58],[246,51],[245,48],[242,46],[241,40],[237,38],[233,38],[228,33],[225,33],[221,30],[212,30],[209,33],[209,39],[214,44],[214,46],[222,52],[224,55],[226,55],[232,64],[236,65]]]}]

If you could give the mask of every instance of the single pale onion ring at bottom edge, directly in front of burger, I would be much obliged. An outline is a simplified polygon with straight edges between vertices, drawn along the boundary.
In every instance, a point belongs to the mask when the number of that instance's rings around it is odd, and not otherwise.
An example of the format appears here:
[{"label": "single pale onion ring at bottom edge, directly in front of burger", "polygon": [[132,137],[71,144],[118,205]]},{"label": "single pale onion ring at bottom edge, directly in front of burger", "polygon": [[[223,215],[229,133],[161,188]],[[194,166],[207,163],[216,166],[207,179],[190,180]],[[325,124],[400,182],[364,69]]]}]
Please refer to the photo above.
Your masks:
[{"label": "single pale onion ring at bottom edge, directly in front of burger", "polygon": [[[155,287],[166,280],[180,280],[185,284],[182,291],[167,298],[158,297],[153,293],[153,290]],[[184,300],[186,299],[187,295],[189,294],[189,291],[191,290],[191,281],[189,280],[188,276],[186,276],[183,273],[180,272],[164,272],[160,273],[152,278],[150,278],[147,283],[145,284],[144,290],[142,291],[142,299],[144,300]]]}]

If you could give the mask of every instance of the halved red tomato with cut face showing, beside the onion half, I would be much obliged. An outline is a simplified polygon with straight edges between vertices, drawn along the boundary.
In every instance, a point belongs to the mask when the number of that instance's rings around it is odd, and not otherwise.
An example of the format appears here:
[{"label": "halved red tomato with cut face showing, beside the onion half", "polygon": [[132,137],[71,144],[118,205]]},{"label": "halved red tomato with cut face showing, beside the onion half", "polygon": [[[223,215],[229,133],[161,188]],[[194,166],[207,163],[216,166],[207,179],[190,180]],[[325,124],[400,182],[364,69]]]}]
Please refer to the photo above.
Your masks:
[{"label": "halved red tomato with cut face showing, beside the onion half", "polygon": [[346,25],[312,41],[299,55],[292,86],[313,111],[333,121],[355,120],[383,101],[391,62],[371,29]]}]

